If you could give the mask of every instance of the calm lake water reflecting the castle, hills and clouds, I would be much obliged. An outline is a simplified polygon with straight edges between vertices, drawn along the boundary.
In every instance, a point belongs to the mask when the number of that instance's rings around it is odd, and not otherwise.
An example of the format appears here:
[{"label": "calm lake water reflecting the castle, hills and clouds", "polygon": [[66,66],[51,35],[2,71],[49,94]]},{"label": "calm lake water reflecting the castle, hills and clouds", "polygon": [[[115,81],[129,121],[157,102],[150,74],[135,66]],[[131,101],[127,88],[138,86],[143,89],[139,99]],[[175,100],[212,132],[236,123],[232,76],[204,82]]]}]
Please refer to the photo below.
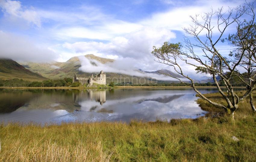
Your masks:
[{"label": "calm lake water reflecting the castle, hills and clouds", "polygon": [[[200,89],[202,93],[217,89]],[[0,89],[0,122],[95,122],[204,115],[192,89]],[[78,111],[76,111],[78,110]]]}]

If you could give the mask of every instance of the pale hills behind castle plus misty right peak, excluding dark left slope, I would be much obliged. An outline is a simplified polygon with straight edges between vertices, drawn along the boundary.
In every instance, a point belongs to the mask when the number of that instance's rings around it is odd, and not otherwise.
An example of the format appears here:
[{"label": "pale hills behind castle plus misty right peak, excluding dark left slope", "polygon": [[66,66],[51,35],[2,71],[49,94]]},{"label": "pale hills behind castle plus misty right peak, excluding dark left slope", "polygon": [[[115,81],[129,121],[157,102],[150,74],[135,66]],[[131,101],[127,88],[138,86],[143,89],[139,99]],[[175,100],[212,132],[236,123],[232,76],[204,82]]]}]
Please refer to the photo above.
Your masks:
[{"label": "pale hills behind castle plus misty right peak, excluding dark left slope", "polygon": [[[114,59],[108,59],[108,58],[102,58],[95,56],[93,54],[87,54],[87,55],[82,55],[82,56],[76,56],[76,57],[71,57],[69,60],[66,62],[57,62],[53,61],[52,63],[33,63],[33,62],[27,62],[27,63],[21,63],[24,67],[29,69],[32,72],[36,72],[41,74],[42,76],[50,79],[59,79],[59,78],[73,78],[74,74],[77,75],[77,77],[89,77],[94,73],[89,73],[89,72],[82,72],[79,70],[81,67],[81,62],[80,59],[82,57],[86,57],[87,59],[90,60],[90,63],[93,66],[97,66],[97,63],[113,63],[115,60]],[[102,69],[104,71],[104,69]],[[156,70],[156,71],[144,71],[142,69],[138,69],[139,72],[142,74],[157,74],[160,77],[166,77],[159,72],[167,73],[169,75],[172,75],[177,78],[184,78],[182,75],[176,74],[174,72],[171,72],[168,69],[161,69],[161,70]],[[178,81],[166,81],[166,78],[163,80],[156,80],[151,77],[143,77],[143,76],[133,76],[133,75],[127,75],[127,74],[120,74],[120,73],[115,73],[115,72],[106,72],[106,78],[107,78],[107,83],[114,81],[114,82],[132,82],[135,84],[138,84],[138,81],[145,81],[145,83],[158,83],[159,81],[162,82],[178,82]],[[113,80],[114,79],[114,80]],[[125,79],[125,80],[124,80]],[[171,78],[170,78],[171,79]]]}]

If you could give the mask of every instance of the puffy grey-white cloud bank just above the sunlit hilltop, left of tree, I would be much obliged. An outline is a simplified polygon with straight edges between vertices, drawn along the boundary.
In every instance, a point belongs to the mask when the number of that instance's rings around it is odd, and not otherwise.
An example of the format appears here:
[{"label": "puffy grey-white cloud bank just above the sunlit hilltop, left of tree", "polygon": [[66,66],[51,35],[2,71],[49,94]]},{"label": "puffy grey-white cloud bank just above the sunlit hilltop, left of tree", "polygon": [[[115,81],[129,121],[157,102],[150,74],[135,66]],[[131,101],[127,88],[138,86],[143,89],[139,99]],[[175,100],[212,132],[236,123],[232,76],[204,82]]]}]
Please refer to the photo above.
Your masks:
[{"label": "puffy grey-white cloud bank just above the sunlit hilltop, left of tree", "polygon": [[139,31],[131,32],[122,37],[114,37],[109,43],[103,42],[76,42],[64,43],[63,47],[77,53],[95,52],[105,55],[121,57],[145,57],[150,54],[152,46],[161,44],[176,35],[163,28],[144,27]]}]

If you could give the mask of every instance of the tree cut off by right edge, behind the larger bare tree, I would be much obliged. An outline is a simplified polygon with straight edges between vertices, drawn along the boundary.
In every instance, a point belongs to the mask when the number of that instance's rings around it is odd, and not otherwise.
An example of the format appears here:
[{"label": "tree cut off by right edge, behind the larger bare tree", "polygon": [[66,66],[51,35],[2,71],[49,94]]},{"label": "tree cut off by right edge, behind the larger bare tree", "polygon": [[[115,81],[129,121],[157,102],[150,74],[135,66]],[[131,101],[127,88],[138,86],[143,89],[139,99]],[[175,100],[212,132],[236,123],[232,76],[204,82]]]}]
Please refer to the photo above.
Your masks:
[{"label": "tree cut off by right edge, behind the larger bare tree", "polygon": [[229,54],[230,57],[233,57],[233,64],[242,57],[238,67],[243,68],[245,72],[241,73],[236,69],[234,75],[246,85],[247,92],[250,96],[251,108],[256,112],[253,104],[253,95],[250,91],[250,89],[254,89],[256,76],[256,24],[254,22],[255,14],[253,8],[250,8],[250,11],[247,14],[252,17],[251,21],[247,22],[244,20],[243,22],[237,22],[238,32],[236,34],[229,34],[229,37],[223,39],[222,42],[228,41],[231,46],[235,47]]}]

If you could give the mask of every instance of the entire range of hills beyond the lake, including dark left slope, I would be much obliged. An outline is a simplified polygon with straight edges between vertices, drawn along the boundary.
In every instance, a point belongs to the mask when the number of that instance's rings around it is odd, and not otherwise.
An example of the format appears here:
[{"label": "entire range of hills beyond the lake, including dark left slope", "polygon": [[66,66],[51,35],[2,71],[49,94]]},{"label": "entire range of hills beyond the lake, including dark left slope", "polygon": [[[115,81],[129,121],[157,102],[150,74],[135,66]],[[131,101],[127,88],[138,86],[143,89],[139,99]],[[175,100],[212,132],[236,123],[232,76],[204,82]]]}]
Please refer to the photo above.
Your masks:
[{"label": "entire range of hills beyond the lake, including dark left slope", "polygon": [[[97,63],[100,62],[102,64],[106,63],[113,63],[115,60],[102,58],[95,56],[93,54],[87,54],[85,56],[90,60],[91,64],[94,66],[98,66]],[[53,61],[51,63],[34,63],[34,62],[15,62],[10,59],[0,59],[0,78],[8,79],[8,78],[22,78],[29,81],[42,81],[45,79],[60,79],[60,78],[73,78],[74,74],[78,77],[89,77],[94,73],[82,72],[79,70],[81,67],[79,57],[72,57],[66,62],[57,62]],[[104,71],[104,69],[102,69]],[[177,78],[184,78],[179,74],[175,74],[167,69],[161,69],[157,71],[144,71],[142,69],[138,69],[139,72],[142,74],[157,74],[160,77],[164,75],[161,73],[166,73],[171,76]],[[114,81],[114,82],[133,82],[137,83],[137,81],[141,80],[142,78],[146,83],[163,83],[163,82],[178,82],[178,81],[160,81],[150,77],[139,77],[139,76],[132,76],[127,74],[120,74],[114,72],[107,72],[107,83]],[[115,78],[115,80],[112,80]],[[125,80],[124,80],[125,78]],[[163,79],[166,80],[166,79]],[[201,82],[201,81],[198,81]],[[208,82],[208,81],[206,81]]]}]

